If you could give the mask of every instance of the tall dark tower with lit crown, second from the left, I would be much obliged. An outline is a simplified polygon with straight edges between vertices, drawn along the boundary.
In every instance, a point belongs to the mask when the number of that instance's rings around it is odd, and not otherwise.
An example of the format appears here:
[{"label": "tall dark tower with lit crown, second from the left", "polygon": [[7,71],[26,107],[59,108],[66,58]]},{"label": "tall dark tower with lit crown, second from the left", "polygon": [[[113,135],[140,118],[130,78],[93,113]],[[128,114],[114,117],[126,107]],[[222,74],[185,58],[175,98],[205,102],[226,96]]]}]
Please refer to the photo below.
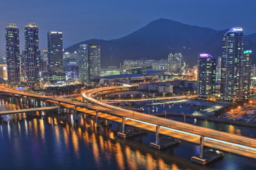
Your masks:
[{"label": "tall dark tower with lit crown, second from the left", "polygon": [[25,27],[25,64],[26,81],[29,86],[35,87],[39,83],[39,57],[38,26],[29,22]]}]

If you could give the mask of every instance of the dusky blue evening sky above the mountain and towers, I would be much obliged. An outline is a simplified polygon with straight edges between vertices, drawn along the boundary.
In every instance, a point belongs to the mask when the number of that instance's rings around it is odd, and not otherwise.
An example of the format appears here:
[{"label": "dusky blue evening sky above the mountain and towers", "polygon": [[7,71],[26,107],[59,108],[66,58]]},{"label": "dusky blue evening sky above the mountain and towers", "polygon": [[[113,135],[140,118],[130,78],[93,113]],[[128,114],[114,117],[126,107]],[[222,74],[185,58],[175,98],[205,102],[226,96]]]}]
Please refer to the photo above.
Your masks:
[{"label": "dusky blue evening sky above the mountain and towers", "polygon": [[47,46],[47,31],[61,30],[64,47],[91,38],[114,39],[129,34],[158,18],[184,24],[256,32],[255,0],[1,0],[0,55],[4,55],[4,28],[20,27],[20,50],[24,48],[24,26],[36,22],[40,49]]}]

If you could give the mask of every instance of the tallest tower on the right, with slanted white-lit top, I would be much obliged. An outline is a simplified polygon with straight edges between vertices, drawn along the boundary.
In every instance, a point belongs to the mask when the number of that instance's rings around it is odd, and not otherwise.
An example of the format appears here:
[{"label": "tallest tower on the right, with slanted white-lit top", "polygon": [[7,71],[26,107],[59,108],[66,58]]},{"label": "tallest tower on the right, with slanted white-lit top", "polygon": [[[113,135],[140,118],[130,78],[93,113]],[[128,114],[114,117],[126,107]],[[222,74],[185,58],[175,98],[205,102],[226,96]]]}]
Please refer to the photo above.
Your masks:
[{"label": "tallest tower on the right, with slanted white-lit top", "polygon": [[220,96],[226,101],[237,101],[243,99],[243,29],[230,29],[222,42]]}]

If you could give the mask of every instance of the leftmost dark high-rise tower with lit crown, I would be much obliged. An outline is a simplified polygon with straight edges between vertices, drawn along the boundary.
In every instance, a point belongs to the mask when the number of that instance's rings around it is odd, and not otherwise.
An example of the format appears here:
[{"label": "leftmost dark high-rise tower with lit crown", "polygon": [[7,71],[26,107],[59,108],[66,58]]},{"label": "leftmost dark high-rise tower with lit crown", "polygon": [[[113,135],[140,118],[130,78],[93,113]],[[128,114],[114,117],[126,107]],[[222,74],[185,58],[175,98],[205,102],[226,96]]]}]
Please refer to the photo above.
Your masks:
[{"label": "leftmost dark high-rise tower with lit crown", "polygon": [[7,75],[10,85],[20,83],[20,47],[19,28],[16,24],[8,24],[5,29]]}]

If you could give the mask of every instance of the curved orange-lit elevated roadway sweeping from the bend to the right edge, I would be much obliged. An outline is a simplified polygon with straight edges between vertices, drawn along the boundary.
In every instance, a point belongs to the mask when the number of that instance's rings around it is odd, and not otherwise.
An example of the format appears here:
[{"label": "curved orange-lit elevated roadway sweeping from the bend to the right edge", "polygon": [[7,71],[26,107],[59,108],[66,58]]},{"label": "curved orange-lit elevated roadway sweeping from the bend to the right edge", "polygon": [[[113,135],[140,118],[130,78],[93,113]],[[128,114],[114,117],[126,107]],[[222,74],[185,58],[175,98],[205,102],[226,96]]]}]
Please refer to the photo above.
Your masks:
[{"label": "curved orange-lit elevated roadway sweeping from the bend to the right edge", "polygon": [[159,125],[160,134],[172,136],[196,144],[200,143],[200,136],[204,136],[205,146],[256,159],[256,139],[254,138],[248,138],[237,134],[186,124],[137,111],[126,110],[102,103],[101,101],[97,101],[97,99],[93,98],[93,96],[99,92],[125,88],[128,87],[102,87],[98,89],[84,90],[82,95],[86,100],[99,106],[99,110],[100,108],[106,108],[110,110],[109,112],[112,115],[117,117],[125,117],[127,120],[126,124],[128,125],[140,127],[141,129],[146,129],[147,131],[152,132],[155,132],[156,126]]}]

